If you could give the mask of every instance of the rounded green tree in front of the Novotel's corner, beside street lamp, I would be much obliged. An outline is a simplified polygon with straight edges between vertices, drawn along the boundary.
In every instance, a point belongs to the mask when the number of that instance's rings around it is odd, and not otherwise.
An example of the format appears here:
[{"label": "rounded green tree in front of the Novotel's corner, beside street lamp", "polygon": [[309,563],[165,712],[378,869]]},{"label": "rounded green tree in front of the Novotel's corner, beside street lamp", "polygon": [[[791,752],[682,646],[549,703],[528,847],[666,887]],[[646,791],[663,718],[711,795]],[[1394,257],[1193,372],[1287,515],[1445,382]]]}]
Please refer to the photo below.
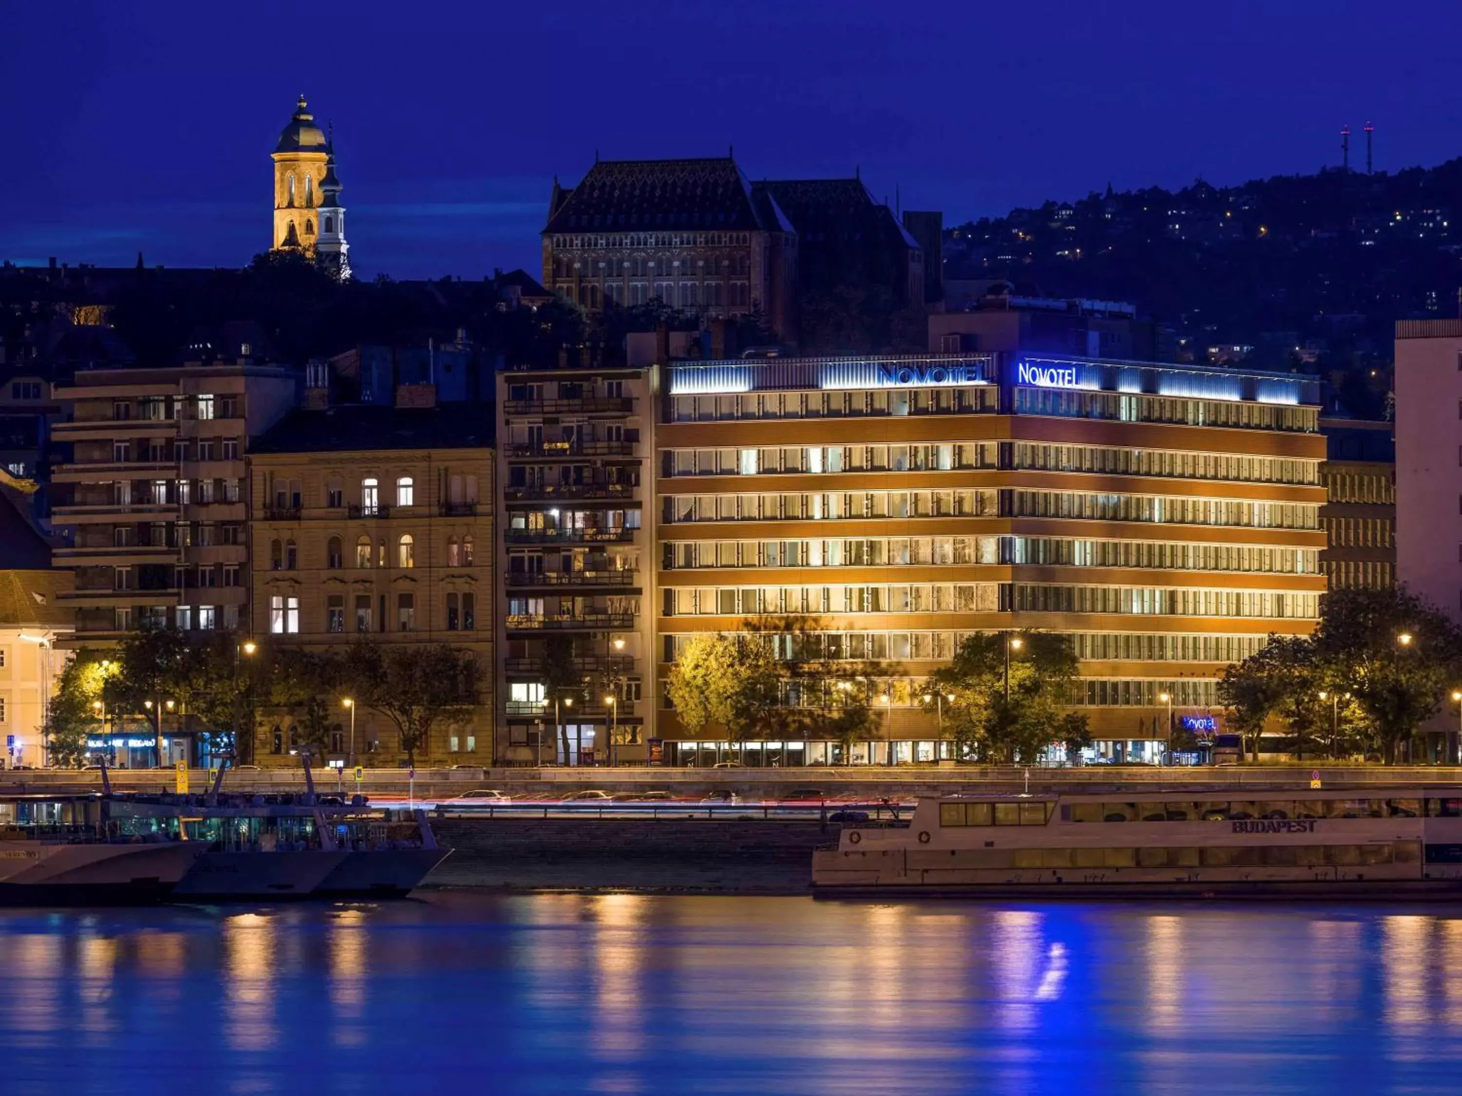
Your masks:
[{"label": "rounded green tree in front of the Novotel's corner, beside street lamp", "polygon": [[1089,744],[1086,716],[1069,710],[1076,681],[1077,659],[1066,636],[975,633],[959,644],[950,665],[934,671],[923,703],[930,712],[943,709],[944,728],[961,753],[1029,764],[1045,747],[1075,751]]}]

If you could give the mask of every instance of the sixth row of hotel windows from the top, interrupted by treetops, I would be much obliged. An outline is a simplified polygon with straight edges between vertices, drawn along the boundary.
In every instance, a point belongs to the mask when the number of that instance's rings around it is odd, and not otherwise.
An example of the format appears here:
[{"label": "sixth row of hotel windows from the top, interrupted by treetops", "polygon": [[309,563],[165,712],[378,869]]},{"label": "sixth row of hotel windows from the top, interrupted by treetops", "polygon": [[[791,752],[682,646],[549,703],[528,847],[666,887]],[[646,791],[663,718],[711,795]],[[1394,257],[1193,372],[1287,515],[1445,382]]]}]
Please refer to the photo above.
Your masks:
[{"label": "sixth row of hotel windows from the top, interrupted by treetops", "polygon": [[[772,637],[779,662],[931,661],[955,658],[975,631],[807,631]],[[674,662],[694,639],[662,636],[662,656]],[[1259,652],[1266,636],[1187,636],[1127,631],[1070,633],[1072,649],[1082,661],[1102,662],[1241,662]]]}]

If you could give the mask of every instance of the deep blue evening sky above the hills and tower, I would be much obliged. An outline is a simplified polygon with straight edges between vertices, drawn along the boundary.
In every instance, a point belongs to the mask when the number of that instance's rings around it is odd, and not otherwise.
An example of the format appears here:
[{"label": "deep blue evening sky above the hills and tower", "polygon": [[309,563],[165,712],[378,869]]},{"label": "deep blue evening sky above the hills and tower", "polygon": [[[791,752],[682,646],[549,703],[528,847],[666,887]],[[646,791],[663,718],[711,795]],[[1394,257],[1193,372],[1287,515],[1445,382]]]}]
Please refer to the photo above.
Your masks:
[{"label": "deep blue evening sky above the hills and tower", "polygon": [[595,149],[858,165],[946,224],[1313,171],[1367,118],[1377,167],[1436,164],[1459,31],[1458,0],[0,0],[0,259],[246,263],[300,92],[364,276],[537,270],[553,175]]}]

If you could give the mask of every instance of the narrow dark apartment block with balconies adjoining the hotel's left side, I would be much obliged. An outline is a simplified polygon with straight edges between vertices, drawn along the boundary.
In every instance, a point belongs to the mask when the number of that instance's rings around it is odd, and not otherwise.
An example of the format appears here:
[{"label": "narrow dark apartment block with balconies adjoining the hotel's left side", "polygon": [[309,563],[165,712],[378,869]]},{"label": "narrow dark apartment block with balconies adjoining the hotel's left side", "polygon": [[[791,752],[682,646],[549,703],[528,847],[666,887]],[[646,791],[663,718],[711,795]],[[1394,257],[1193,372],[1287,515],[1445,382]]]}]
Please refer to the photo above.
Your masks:
[{"label": "narrow dark apartment block with balconies adjoining the hotel's left side", "polygon": [[643,761],[651,370],[497,377],[500,756]]}]

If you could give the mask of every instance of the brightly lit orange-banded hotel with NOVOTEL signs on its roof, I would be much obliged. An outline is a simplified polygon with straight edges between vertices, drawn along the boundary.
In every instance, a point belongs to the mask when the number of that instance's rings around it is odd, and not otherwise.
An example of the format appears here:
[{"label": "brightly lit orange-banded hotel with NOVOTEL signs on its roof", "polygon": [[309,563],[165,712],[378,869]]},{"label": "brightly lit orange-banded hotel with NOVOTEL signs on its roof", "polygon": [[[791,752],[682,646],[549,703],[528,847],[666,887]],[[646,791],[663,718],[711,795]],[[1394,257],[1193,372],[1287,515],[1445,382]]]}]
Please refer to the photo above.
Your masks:
[{"label": "brightly lit orange-banded hotel with NOVOTEL signs on its roof", "polygon": [[[879,663],[874,741],[749,742],[749,764],[953,757],[924,678],[974,631],[1072,636],[1096,750],[1156,757],[1222,668],[1308,633],[1325,590],[1313,377],[1032,355],[671,362],[655,380],[649,732],[675,652],[759,615],[782,658]],[[649,507],[646,507],[649,509]],[[646,611],[651,609],[646,599]],[[791,700],[823,706],[808,685]],[[885,703],[879,703],[886,697]],[[651,722],[651,720],[648,720]],[[724,735],[719,735],[724,737]]]}]

